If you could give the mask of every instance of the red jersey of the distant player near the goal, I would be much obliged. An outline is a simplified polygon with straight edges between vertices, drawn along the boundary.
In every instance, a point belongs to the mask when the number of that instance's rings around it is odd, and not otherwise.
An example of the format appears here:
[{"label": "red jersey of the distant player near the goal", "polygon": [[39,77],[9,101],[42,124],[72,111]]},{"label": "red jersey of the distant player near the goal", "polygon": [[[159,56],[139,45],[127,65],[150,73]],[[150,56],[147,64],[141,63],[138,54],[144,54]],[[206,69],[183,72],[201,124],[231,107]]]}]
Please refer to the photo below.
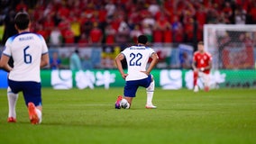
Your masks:
[{"label": "red jersey of the distant player near the goal", "polygon": [[[212,61],[212,55],[208,52],[200,53],[199,51],[196,51],[193,56],[193,61],[196,61],[197,68],[207,67]],[[210,69],[206,69],[204,73],[209,74]]]}]

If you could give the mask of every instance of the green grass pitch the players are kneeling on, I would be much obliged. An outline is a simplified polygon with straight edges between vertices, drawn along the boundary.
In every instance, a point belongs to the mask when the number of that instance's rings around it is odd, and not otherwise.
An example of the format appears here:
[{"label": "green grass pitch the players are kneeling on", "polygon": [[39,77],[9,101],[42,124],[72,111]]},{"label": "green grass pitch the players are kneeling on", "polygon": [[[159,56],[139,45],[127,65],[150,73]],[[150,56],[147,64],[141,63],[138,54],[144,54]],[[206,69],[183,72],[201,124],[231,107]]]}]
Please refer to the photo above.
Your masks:
[{"label": "green grass pitch the players are kneeling on", "polygon": [[0,89],[1,143],[256,143],[256,90],[155,90],[158,109],[145,109],[138,90],[130,110],[114,109],[123,88],[42,89],[43,120],[32,125],[20,93],[17,122],[7,123]]}]

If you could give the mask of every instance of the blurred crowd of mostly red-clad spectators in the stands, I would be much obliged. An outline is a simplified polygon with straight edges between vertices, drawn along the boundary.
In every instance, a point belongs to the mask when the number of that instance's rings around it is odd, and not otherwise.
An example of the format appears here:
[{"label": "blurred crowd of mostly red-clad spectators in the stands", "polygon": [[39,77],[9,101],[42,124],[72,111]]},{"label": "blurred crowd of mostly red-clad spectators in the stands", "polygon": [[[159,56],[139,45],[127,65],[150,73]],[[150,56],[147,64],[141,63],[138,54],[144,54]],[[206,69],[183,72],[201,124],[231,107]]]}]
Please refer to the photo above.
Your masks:
[{"label": "blurred crowd of mostly red-clad spectators in the stands", "polygon": [[[0,40],[15,33],[14,15],[32,17],[31,30],[51,46],[113,45],[140,34],[154,43],[203,40],[205,23],[256,23],[255,0],[2,0]],[[2,43],[2,44],[3,44]]]}]

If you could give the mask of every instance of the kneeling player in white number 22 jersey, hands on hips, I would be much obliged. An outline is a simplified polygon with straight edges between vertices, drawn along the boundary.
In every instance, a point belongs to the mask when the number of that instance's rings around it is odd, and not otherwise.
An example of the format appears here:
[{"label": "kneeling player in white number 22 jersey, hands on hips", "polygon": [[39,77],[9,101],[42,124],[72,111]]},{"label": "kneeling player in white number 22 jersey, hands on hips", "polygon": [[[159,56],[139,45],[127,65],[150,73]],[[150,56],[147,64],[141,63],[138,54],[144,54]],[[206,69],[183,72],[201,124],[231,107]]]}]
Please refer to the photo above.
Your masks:
[{"label": "kneeling player in white number 22 jersey, hands on hips", "polygon": [[[115,58],[115,64],[126,81],[123,89],[124,97],[118,96],[115,102],[115,108],[117,109],[120,109],[120,102],[123,98],[128,101],[130,106],[132,105],[133,97],[136,96],[139,86],[143,86],[147,90],[146,108],[157,108],[152,104],[155,81],[150,73],[152,68],[156,66],[159,57],[153,49],[146,46],[147,42],[148,38],[145,35],[140,35],[137,45],[124,49]],[[124,58],[128,67],[127,74],[123,72],[122,60]],[[149,58],[152,58],[151,64],[146,69]]]}]

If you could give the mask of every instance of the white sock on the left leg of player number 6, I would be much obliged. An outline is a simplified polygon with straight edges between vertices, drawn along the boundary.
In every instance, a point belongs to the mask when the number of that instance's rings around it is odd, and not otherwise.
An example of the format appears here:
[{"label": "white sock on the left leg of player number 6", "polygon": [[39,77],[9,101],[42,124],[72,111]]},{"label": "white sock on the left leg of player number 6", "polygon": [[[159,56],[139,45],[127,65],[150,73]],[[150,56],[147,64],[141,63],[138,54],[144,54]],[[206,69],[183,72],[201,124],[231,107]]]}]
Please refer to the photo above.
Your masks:
[{"label": "white sock on the left leg of player number 6", "polygon": [[18,94],[14,94],[10,87],[7,88],[7,98],[8,98],[8,106],[9,106],[9,113],[8,117],[16,118],[16,102],[18,100]]}]

